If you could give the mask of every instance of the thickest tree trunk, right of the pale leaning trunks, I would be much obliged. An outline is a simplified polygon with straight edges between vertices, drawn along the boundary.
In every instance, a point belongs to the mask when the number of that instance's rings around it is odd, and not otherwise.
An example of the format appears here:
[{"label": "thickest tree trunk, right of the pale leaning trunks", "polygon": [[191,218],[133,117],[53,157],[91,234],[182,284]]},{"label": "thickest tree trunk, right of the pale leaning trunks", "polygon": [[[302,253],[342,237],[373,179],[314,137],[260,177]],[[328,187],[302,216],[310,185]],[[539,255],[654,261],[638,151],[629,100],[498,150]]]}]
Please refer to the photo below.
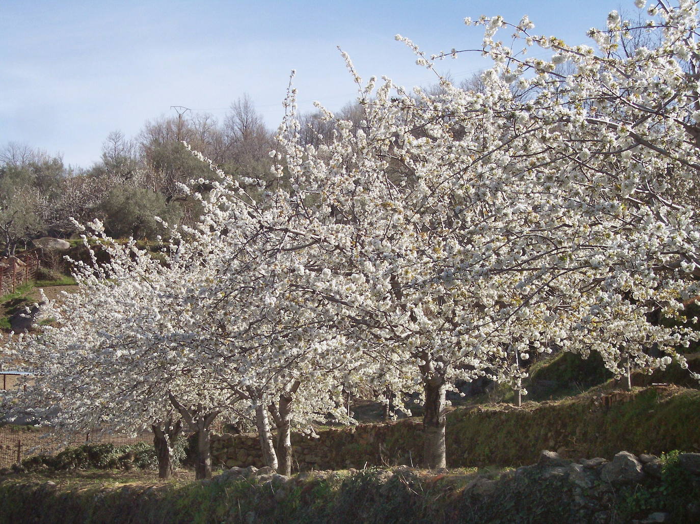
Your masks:
[{"label": "thickest tree trunk, right of the pale leaning trunks", "polygon": [[445,381],[442,374],[423,375],[423,390],[426,393],[423,414],[423,462],[428,469],[446,467],[445,426]]}]

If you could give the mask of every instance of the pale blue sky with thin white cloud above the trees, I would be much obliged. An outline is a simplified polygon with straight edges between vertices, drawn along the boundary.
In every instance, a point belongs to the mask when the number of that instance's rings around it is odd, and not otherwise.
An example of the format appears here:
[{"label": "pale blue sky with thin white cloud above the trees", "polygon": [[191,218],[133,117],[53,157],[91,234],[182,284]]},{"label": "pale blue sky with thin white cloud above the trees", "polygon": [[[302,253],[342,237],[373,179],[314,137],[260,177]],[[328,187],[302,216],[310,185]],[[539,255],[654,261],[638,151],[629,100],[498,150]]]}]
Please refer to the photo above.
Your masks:
[{"label": "pale blue sky with thin white cloud above the trees", "polygon": [[[353,99],[337,45],[363,78],[430,85],[395,34],[428,54],[473,48],[482,29],[464,17],[528,14],[535,34],[584,43],[621,8],[636,10],[631,0],[0,0],[0,147],[28,143],[89,167],[113,130],[137,134],[173,105],[221,119],[244,93],[276,127],[291,69],[302,111]],[[442,66],[461,80],[484,62],[461,55]]]}]

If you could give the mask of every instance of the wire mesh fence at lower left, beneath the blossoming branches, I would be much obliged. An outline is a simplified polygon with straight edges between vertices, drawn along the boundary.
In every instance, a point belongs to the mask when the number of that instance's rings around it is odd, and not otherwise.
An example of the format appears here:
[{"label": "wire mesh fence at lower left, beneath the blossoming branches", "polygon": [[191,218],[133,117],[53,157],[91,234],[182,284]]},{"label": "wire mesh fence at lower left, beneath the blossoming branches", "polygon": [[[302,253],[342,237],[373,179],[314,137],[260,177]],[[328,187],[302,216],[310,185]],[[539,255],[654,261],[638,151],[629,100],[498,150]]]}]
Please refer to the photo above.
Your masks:
[{"label": "wire mesh fence at lower left, beneath the blossoming branches", "polygon": [[0,468],[10,467],[27,457],[42,453],[54,455],[66,448],[82,444],[114,444],[124,446],[147,442],[153,444],[153,434],[142,433],[136,437],[102,432],[65,434],[50,427],[6,426],[0,427]]}]

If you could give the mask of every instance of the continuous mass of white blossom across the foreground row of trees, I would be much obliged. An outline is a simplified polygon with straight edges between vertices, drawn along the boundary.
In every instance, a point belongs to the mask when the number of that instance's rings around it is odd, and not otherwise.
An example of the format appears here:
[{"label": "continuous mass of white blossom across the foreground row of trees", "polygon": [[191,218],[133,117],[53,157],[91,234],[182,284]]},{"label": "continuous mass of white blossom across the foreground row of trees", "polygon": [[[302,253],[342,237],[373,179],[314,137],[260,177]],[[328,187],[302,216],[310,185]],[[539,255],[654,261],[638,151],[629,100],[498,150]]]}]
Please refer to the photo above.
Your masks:
[{"label": "continuous mass of white blossom across the foreground row of trees", "polygon": [[[478,92],[442,77],[438,94],[363,84],[343,55],[362,124],[324,110],[335,139],[306,145],[290,90],[271,153],[280,183],[260,201],[219,173],[165,264],[102,239],[111,262],[78,264],[57,327],[15,344],[37,372],[15,402],[121,430],[167,417],[172,395],[254,419],[271,453],[269,415],[278,428],[349,421],[343,392],[417,390],[440,466],[458,379],[521,390],[521,361],[554,350],[599,353],[618,376],[685,366],[677,348],[698,338],[685,304],[700,295],[700,20],[689,0],[650,15],[659,45],[629,55],[615,12],[590,31],[598,50],[533,35],[527,17],[482,17],[493,67]],[[495,40],[503,27],[522,51]],[[396,38],[432,71],[445,56]],[[551,59],[527,58],[533,45]]]}]

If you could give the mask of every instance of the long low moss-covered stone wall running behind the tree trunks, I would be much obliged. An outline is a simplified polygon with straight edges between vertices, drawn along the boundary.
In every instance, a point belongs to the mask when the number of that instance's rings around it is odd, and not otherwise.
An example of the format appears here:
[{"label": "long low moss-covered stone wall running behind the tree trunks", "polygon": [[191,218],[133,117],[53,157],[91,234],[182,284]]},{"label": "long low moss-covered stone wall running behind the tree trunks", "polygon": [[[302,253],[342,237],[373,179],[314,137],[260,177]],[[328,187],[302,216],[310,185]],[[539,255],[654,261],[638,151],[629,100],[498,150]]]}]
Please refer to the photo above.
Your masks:
[{"label": "long low moss-covered stone wall running behind the tree trunks", "polygon": [[[411,419],[327,430],[318,439],[294,435],[294,465],[299,471],[419,465],[422,441],[421,424]],[[529,464],[542,449],[570,458],[610,458],[621,449],[700,451],[700,391],[645,388],[521,409],[503,404],[456,409],[447,415],[449,467]],[[213,454],[227,467],[262,465],[252,434],[215,437]]]}]

